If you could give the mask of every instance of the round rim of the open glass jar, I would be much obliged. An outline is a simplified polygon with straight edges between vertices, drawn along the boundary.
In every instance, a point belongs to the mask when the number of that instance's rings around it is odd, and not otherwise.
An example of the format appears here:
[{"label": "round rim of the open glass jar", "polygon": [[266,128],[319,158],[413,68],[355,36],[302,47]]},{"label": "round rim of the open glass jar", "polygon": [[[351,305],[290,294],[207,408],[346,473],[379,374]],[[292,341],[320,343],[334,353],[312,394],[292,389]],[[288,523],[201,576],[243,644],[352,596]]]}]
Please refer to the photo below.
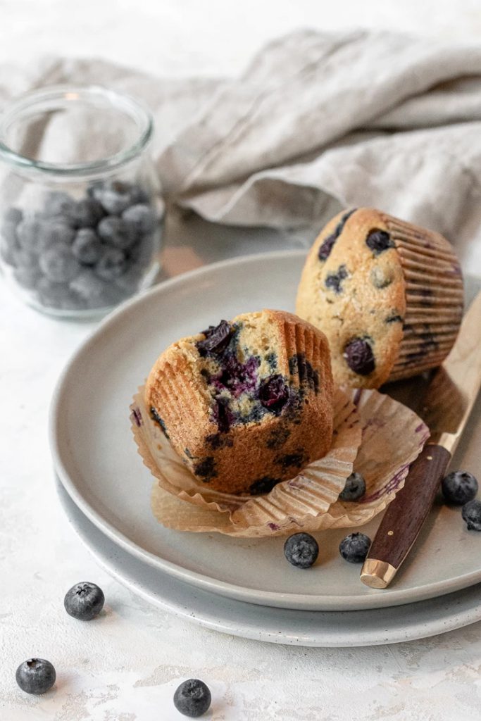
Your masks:
[{"label": "round rim of the open glass jar", "polygon": [[[93,105],[96,99],[107,100],[110,107],[123,112],[136,123],[138,129],[136,140],[117,153],[89,162],[61,164],[35,160],[17,153],[6,143],[6,129],[9,125],[26,110],[34,109],[35,105],[56,100]],[[149,144],[153,131],[154,119],[151,112],[128,94],[102,85],[50,85],[22,94],[6,105],[0,116],[0,159],[27,172],[40,171],[54,176],[79,177],[102,174],[118,169],[140,155]]]}]

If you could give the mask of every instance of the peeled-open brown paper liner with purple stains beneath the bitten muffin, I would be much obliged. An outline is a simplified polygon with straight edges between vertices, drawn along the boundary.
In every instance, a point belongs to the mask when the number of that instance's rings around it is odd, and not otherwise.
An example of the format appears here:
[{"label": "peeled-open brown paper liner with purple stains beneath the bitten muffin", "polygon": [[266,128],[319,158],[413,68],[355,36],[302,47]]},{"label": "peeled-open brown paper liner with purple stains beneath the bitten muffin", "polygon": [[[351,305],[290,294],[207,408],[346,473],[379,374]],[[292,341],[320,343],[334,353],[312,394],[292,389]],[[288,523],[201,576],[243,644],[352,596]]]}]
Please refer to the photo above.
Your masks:
[{"label": "peeled-open brown paper liner with purple stains beneath the bitten muffin", "polygon": [[[337,389],[330,451],[265,495],[232,495],[210,490],[190,474],[151,420],[143,388],[133,399],[131,422],[138,453],[156,479],[151,508],[157,520],[177,531],[243,538],[368,523],[401,490],[429,437],[420,417],[389,396]],[[343,502],[339,494],[353,470],[366,479],[366,493]]]}]

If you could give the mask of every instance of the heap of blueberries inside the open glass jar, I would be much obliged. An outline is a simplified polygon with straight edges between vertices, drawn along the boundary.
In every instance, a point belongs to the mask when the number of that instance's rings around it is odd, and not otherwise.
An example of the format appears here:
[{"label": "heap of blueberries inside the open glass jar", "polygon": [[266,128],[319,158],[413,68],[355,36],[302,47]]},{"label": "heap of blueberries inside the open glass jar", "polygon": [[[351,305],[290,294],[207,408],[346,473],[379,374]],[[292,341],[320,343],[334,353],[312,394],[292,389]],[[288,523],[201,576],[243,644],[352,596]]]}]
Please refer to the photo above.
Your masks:
[{"label": "heap of blueberries inside the open glass jar", "polygon": [[0,257],[41,306],[101,309],[137,290],[158,232],[159,218],[140,185],[98,182],[80,200],[55,191],[35,213],[9,208]]}]

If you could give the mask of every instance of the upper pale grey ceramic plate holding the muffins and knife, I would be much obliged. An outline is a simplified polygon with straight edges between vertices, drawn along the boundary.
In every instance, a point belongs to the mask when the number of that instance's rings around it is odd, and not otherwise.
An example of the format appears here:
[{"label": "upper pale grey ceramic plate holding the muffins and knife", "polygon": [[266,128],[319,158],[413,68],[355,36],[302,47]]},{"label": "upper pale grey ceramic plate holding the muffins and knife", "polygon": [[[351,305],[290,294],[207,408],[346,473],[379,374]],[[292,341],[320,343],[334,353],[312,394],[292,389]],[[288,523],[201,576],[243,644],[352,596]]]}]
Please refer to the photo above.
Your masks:
[{"label": "upper pale grey ceramic plate holding the muffins and knife", "polygon": [[[481,534],[465,530],[459,510],[435,505],[415,549],[384,591],[366,588],[359,568],[337,551],[346,531],[319,534],[320,562],[288,565],[282,539],[188,534],[157,523],[153,479],[131,438],[129,404],[170,342],[221,318],[263,307],[294,309],[304,252],[242,257],[162,283],[100,324],[66,367],[53,399],[50,443],[58,476],[79,508],[116,544],[179,580],[288,609],[394,606],[481,581]],[[478,283],[479,285],[479,283]],[[481,398],[454,467],[474,472],[481,459]],[[372,535],[379,519],[363,528]]]}]

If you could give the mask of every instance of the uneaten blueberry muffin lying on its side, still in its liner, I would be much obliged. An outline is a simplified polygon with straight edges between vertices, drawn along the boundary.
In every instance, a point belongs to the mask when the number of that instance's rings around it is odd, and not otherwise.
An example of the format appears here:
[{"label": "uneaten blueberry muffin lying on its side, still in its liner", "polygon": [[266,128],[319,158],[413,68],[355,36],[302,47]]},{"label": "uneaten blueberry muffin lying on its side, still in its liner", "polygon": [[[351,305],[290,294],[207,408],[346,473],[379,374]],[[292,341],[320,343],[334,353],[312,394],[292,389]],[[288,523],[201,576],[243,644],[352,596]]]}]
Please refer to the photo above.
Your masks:
[{"label": "uneaten blueberry muffin lying on its side, still in its liner", "polygon": [[371,208],[343,211],[309,252],[296,312],[322,329],[335,382],[379,388],[438,366],[463,311],[449,242]]}]

